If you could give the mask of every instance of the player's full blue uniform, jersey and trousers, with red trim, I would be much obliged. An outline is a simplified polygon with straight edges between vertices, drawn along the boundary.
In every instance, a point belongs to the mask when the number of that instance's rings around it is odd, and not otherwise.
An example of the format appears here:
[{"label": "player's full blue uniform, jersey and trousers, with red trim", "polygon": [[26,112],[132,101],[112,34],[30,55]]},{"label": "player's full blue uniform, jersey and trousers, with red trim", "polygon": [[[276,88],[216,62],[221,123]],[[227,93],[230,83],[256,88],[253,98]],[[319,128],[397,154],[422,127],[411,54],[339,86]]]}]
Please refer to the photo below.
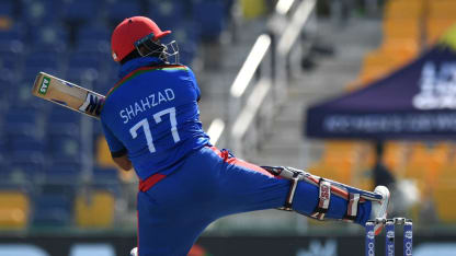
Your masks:
[{"label": "player's full blue uniform, jersey and trousers, with red trim", "polygon": [[[121,68],[121,81],[101,113],[113,156],[127,154],[140,178],[139,256],[183,256],[213,221],[232,213],[283,207],[290,181],[209,144],[200,121],[192,70],[155,57]],[[310,214],[319,188],[299,183],[293,209]],[[342,219],[347,201],[332,197],[327,218]],[[360,205],[364,224],[371,202]]]}]

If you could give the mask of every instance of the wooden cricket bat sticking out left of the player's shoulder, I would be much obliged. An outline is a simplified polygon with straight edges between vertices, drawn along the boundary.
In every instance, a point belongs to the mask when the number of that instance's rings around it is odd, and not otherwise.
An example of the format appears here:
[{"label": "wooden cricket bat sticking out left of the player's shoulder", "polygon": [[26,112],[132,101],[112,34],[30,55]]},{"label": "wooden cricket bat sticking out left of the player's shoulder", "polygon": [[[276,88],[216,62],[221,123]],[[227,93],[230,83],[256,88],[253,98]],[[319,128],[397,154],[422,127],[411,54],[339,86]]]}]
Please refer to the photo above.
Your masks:
[{"label": "wooden cricket bat sticking out left of the player's shoulder", "polygon": [[36,75],[32,94],[98,119],[104,103],[103,95],[45,72]]}]

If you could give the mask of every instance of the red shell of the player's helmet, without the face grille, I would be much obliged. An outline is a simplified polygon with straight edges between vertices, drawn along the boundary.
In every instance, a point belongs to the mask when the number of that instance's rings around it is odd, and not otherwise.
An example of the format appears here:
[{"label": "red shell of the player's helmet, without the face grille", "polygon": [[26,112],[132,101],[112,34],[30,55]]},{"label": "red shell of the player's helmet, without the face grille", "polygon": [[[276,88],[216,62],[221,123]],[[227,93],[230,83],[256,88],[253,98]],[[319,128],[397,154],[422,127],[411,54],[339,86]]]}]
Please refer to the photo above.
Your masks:
[{"label": "red shell of the player's helmet, without the face grille", "polygon": [[153,33],[153,40],[171,33],[161,31],[158,25],[146,16],[132,16],[118,24],[111,36],[111,50],[115,61],[121,61],[125,56],[135,50],[135,43]]}]

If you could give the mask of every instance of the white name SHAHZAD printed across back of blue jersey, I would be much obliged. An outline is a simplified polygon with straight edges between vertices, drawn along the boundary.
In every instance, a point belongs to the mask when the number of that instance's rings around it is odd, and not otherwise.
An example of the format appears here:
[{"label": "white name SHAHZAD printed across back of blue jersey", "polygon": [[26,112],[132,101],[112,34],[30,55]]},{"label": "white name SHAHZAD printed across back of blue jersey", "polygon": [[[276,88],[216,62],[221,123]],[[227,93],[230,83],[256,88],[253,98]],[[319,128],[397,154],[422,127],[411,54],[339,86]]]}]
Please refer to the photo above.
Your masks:
[{"label": "white name SHAHZAD printed across back of blue jersey", "polygon": [[152,93],[144,98],[140,98],[139,101],[134,102],[133,104],[128,105],[127,107],[118,112],[118,115],[123,119],[124,124],[127,124],[138,114],[146,112],[147,109],[150,109],[162,103],[171,102],[174,98],[174,91],[172,91],[172,89],[164,89],[163,91]]}]

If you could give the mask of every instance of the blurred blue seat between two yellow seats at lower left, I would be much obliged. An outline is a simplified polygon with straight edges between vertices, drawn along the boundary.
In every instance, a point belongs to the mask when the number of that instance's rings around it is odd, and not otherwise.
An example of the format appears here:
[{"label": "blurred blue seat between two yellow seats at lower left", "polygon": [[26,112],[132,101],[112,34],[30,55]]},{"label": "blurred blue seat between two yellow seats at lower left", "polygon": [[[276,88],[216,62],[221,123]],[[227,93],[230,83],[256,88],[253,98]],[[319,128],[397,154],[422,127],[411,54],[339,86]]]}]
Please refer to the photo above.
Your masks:
[{"label": "blurred blue seat between two yellow seats at lower left", "polygon": [[34,198],[34,226],[65,226],[71,222],[72,198],[61,194],[43,194]]}]

